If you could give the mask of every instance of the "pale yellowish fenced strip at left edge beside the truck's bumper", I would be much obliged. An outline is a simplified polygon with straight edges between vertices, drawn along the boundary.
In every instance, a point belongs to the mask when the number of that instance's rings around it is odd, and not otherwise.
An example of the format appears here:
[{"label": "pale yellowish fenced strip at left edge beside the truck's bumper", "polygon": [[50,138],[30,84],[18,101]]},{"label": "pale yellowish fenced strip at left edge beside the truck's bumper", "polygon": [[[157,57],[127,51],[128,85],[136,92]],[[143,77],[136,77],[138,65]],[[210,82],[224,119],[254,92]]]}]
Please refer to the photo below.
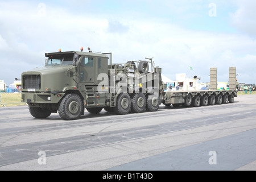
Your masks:
[{"label": "pale yellowish fenced strip at left edge beside the truck's bumper", "polygon": [[6,107],[16,105],[26,105],[21,101],[21,93],[0,93],[0,106]]}]

